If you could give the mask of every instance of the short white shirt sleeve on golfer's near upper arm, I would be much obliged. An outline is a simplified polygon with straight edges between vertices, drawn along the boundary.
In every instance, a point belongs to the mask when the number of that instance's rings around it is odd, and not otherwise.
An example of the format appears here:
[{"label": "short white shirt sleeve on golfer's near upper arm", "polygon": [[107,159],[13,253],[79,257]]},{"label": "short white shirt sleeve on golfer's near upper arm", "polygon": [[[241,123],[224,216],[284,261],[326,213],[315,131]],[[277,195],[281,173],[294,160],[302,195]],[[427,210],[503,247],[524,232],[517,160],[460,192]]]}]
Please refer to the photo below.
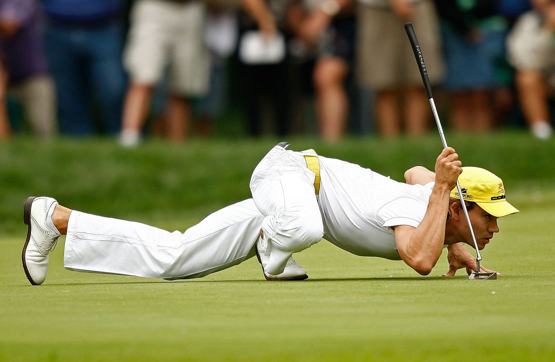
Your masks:
[{"label": "short white shirt sleeve on golfer's near upper arm", "polygon": [[377,219],[382,227],[408,225],[417,228],[422,222],[428,203],[420,198],[399,197],[382,206],[377,212]]}]

